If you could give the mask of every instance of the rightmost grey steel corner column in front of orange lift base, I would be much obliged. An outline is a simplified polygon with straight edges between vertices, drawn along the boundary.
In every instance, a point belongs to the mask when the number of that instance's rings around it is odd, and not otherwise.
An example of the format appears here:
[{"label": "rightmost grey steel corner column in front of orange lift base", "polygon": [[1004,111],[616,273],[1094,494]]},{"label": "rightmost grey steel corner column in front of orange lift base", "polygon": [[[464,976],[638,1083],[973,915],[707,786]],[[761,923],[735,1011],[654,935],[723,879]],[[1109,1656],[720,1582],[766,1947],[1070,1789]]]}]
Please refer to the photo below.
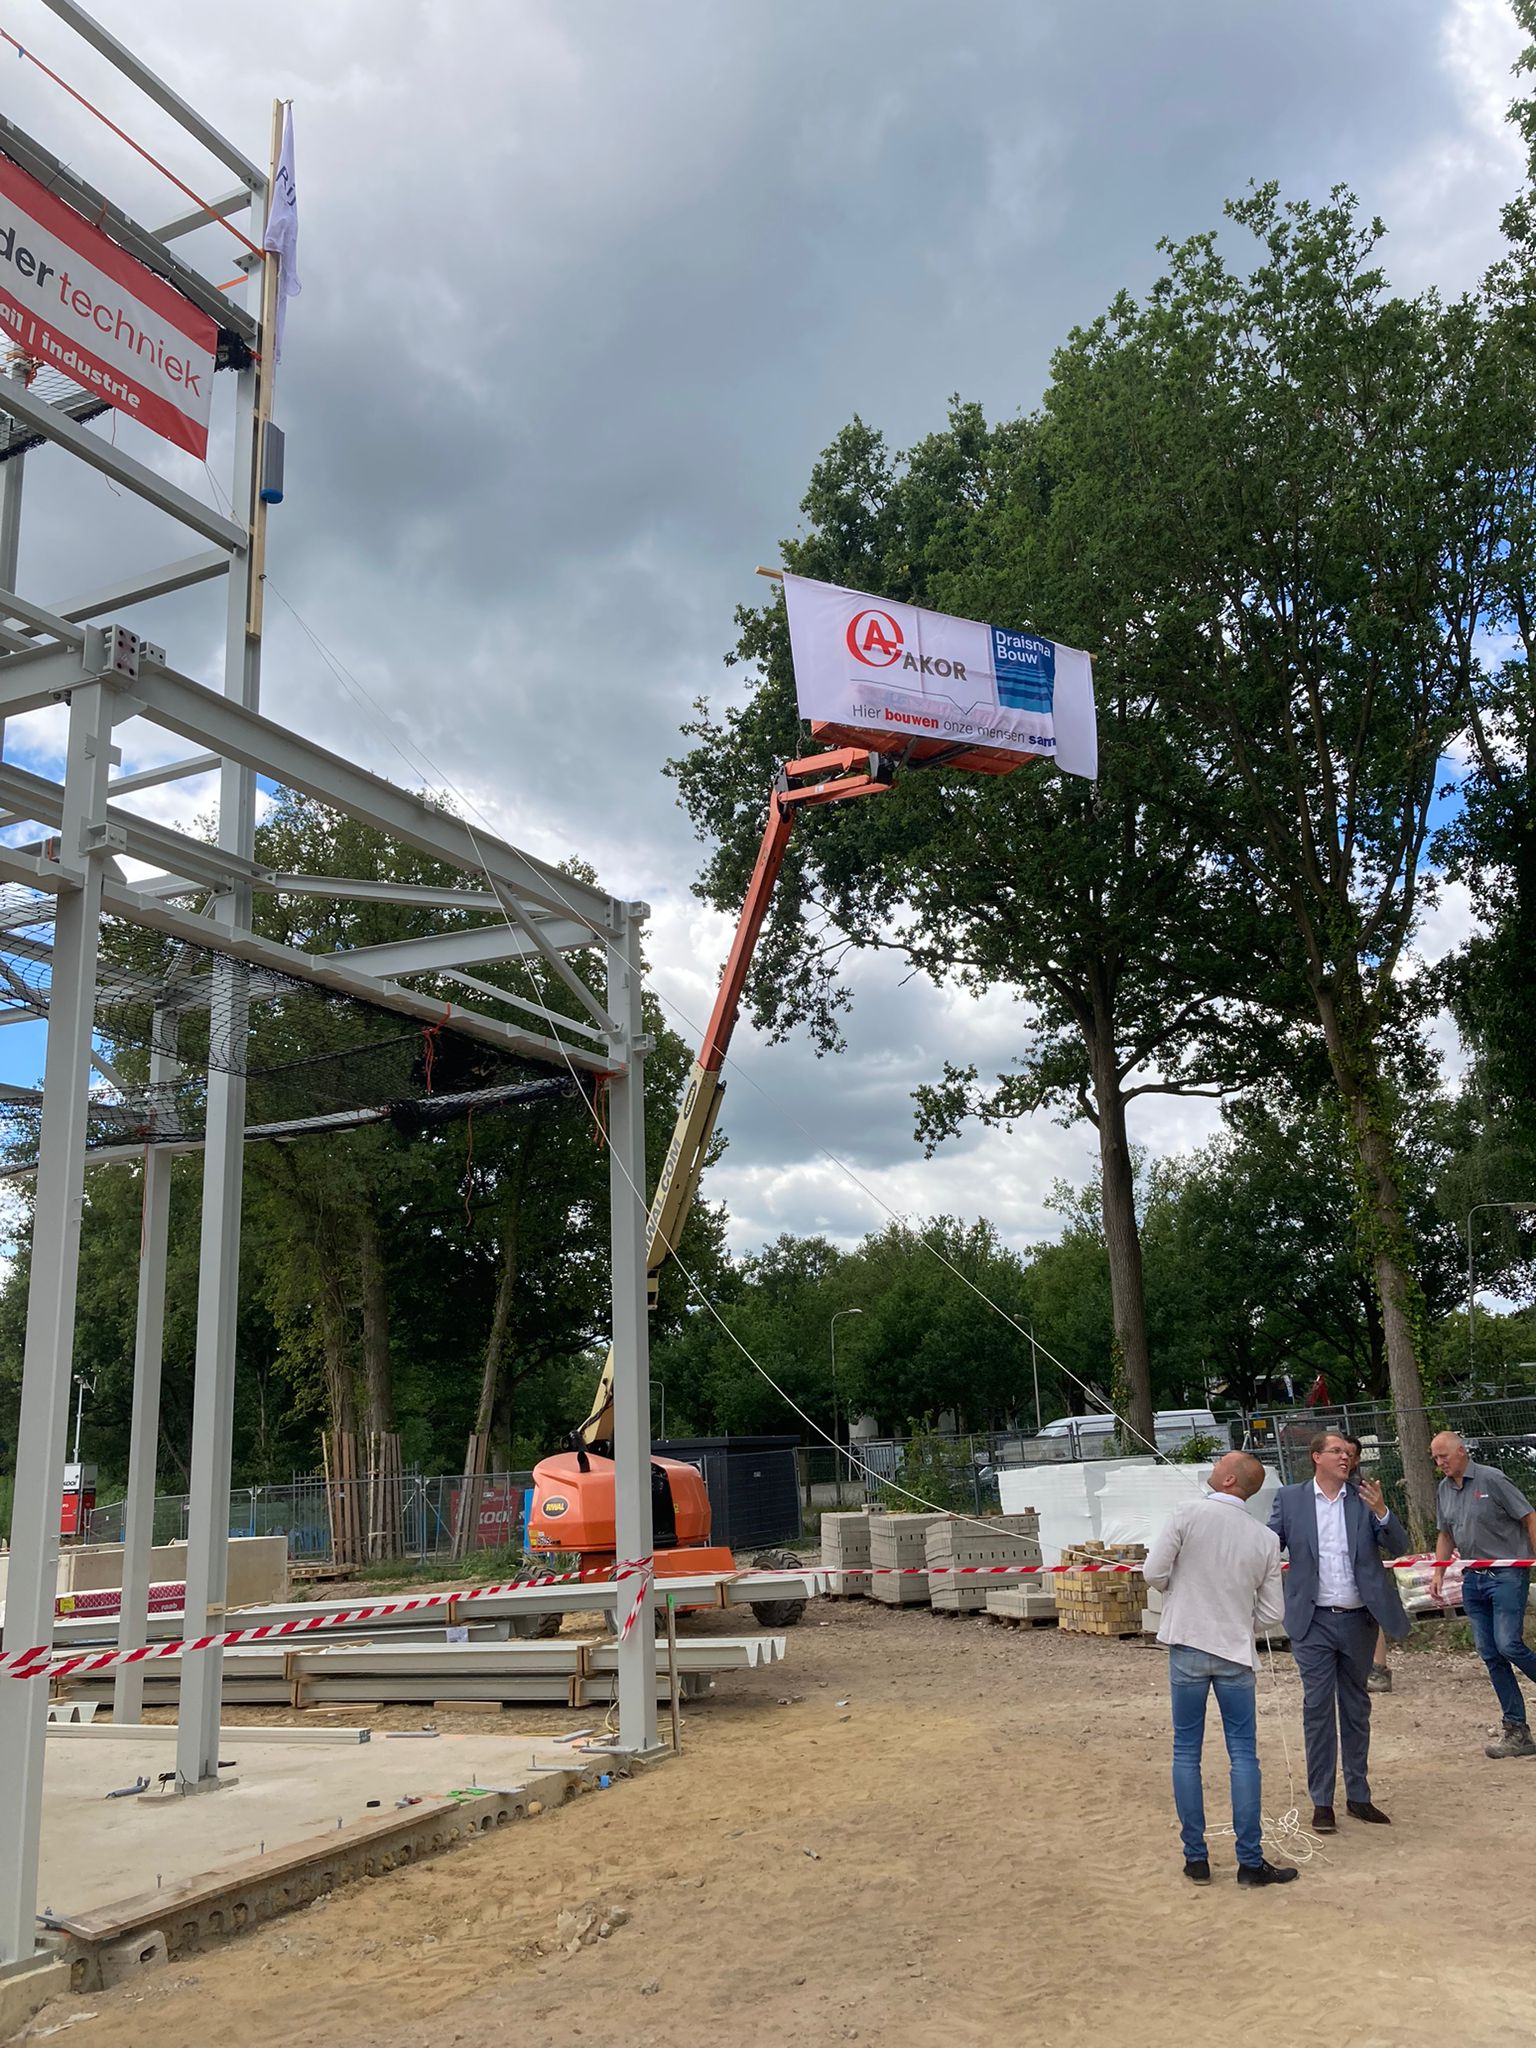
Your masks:
[{"label": "rightmost grey steel corner column in front of orange lift base", "polygon": [[[651,1333],[645,1313],[645,1018],[643,903],[631,903],[608,946],[608,1014],[623,1026],[623,1071],[608,1083],[608,1204],[612,1231],[612,1460],[618,1559],[651,1556]],[[618,1620],[633,1581],[618,1589]],[[618,1645],[618,1743],[655,1749],[655,1622],[651,1604]]]}]

